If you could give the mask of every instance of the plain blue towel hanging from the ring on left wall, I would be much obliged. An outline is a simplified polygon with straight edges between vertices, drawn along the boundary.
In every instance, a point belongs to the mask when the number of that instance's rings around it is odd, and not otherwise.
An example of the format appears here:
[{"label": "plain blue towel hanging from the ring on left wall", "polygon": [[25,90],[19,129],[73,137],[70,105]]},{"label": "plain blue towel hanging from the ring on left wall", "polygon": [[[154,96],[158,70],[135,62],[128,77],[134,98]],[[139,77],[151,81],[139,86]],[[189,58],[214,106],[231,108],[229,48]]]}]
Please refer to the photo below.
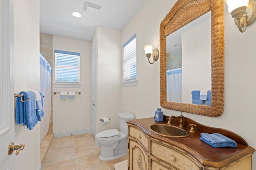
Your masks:
[{"label": "plain blue towel hanging from the ring on left wall", "polygon": [[35,108],[35,97],[33,92],[20,92],[19,94],[23,94],[23,100],[30,98],[27,102],[21,102],[20,97],[16,99],[16,123],[21,124],[23,126],[27,126],[29,130],[32,130],[33,127],[38,123],[38,119],[36,117],[36,108]]}]

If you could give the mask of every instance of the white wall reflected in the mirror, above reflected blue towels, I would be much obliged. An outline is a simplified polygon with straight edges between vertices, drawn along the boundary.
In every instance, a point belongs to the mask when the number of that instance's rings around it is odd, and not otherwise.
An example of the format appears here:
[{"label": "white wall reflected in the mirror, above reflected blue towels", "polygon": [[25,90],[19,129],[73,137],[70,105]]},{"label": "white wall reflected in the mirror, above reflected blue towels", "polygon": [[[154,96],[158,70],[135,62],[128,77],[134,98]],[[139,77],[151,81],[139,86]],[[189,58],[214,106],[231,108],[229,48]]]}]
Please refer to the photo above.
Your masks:
[{"label": "white wall reflected in the mirror, above reflected blue towels", "polygon": [[211,90],[212,86],[211,20],[196,25],[181,37],[182,102],[192,104],[193,90]]}]

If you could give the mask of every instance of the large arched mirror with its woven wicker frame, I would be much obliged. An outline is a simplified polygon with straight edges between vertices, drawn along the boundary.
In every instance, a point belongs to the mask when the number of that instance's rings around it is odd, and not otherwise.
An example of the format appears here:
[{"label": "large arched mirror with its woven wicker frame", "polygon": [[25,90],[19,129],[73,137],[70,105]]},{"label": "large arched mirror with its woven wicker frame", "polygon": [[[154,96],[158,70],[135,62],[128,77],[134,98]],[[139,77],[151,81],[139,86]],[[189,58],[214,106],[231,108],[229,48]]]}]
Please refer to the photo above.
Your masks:
[{"label": "large arched mirror with its woven wicker frame", "polygon": [[[160,24],[160,105],[210,117],[222,115],[224,47],[224,1],[177,0]],[[168,74],[181,76],[170,86]],[[193,94],[198,97],[198,92],[209,101],[197,103]]]}]

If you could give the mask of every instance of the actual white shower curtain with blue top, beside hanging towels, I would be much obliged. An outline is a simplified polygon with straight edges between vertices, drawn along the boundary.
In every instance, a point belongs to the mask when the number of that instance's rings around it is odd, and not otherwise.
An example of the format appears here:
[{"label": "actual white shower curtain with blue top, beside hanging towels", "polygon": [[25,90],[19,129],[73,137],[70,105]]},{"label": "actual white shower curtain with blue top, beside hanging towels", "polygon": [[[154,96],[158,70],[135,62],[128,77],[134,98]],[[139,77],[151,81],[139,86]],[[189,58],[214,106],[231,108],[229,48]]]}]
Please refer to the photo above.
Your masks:
[{"label": "actual white shower curtain with blue top, beside hanging towels", "polygon": [[40,92],[44,104],[44,117],[40,121],[40,143],[48,133],[51,116],[51,73],[52,67],[40,54]]}]

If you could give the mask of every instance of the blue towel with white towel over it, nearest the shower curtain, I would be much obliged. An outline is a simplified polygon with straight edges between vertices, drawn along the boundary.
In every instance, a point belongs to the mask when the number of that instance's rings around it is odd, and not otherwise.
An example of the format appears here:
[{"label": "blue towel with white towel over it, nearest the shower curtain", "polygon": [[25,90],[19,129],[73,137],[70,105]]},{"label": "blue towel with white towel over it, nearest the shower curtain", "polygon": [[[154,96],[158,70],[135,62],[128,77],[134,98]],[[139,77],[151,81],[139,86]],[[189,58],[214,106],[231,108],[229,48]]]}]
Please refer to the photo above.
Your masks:
[{"label": "blue towel with white towel over it, nearest the shower curtain", "polygon": [[30,92],[34,93],[35,106],[36,106],[36,117],[37,117],[38,121],[41,121],[41,118],[44,116],[43,95],[41,92],[38,92],[36,90],[30,90]]}]

